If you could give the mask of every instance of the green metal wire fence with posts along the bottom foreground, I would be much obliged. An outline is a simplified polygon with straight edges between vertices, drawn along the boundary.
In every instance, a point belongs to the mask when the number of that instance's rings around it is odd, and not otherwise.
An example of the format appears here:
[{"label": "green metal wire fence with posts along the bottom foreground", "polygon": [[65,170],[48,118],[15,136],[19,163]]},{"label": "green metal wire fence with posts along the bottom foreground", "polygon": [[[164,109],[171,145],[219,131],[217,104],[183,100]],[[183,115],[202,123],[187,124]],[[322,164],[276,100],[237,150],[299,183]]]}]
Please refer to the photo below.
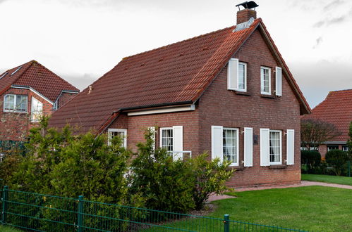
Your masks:
[{"label": "green metal wire fence with posts along the bottom foreground", "polygon": [[31,231],[300,231],[279,226],[62,198],[4,186],[1,224]]}]

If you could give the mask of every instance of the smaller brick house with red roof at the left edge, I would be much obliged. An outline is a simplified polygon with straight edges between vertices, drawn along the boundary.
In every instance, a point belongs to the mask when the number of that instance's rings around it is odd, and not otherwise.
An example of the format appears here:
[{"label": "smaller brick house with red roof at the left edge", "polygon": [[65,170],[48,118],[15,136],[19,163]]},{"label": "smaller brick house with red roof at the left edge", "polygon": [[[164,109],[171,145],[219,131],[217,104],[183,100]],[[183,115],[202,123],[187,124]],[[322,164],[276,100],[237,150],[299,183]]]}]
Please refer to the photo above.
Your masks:
[{"label": "smaller brick house with red roof at the left edge", "polygon": [[42,115],[51,115],[79,90],[32,60],[0,75],[0,142],[23,141]]}]

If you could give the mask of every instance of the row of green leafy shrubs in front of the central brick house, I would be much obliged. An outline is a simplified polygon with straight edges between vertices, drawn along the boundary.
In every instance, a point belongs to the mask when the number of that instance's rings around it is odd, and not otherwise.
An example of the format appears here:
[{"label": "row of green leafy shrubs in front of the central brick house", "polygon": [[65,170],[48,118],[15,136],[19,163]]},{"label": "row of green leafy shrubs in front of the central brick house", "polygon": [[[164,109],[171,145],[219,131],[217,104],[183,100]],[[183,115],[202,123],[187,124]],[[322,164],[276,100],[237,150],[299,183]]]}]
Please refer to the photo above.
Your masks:
[{"label": "row of green leafy shrubs in front of the central brick house", "polygon": [[25,155],[6,155],[0,163],[0,179],[19,191],[60,195],[154,210],[200,210],[210,193],[223,193],[233,171],[229,162],[210,160],[207,154],[173,160],[166,150],[154,149],[152,132],[136,153],[114,137],[92,133],[74,135],[47,127],[30,130]]}]

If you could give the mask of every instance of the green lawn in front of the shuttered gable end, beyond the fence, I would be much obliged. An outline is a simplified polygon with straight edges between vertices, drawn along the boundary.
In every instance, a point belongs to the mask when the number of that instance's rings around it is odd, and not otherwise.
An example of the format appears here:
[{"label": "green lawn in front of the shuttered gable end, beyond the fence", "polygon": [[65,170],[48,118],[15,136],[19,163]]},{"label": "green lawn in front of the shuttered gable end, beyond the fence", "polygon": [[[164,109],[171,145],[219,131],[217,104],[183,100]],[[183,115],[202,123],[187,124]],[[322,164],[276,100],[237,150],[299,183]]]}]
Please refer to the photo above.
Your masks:
[{"label": "green lawn in front of the shuttered gable end, beyond the fence", "polygon": [[352,190],[323,186],[278,188],[236,193],[218,200],[211,217],[308,231],[352,231]]}]

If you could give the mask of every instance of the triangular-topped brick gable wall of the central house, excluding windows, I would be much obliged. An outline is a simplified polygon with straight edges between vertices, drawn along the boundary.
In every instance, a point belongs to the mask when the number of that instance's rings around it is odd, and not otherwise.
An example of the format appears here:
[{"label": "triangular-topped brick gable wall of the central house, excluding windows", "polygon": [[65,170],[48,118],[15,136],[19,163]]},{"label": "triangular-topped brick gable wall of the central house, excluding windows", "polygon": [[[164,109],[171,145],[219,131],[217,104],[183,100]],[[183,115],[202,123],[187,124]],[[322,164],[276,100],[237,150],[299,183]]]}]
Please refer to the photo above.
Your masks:
[{"label": "triangular-topped brick gable wall of the central house, excluding windows", "polygon": [[[253,51],[255,48],[255,51]],[[221,71],[205,94],[200,98],[200,146],[211,150],[211,126],[240,129],[240,158],[243,160],[243,127],[253,127],[253,134],[260,135],[260,128],[282,131],[282,164],[286,160],[286,129],[295,129],[295,165],[284,169],[260,167],[260,144],[253,146],[253,167],[238,171],[229,184],[231,186],[253,186],[269,183],[289,183],[301,180],[300,166],[300,108],[286,78],[283,77],[282,96],[265,98],[260,95],[260,66],[272,68],[272,93],[275,90],[274,70],[279,66],[263,41],[260,32],[245,42],[233,56],[247,63],[247,89],[250,96],[227,90],[227,67]],[[274,96],[274,95],[273,95]]]}]

